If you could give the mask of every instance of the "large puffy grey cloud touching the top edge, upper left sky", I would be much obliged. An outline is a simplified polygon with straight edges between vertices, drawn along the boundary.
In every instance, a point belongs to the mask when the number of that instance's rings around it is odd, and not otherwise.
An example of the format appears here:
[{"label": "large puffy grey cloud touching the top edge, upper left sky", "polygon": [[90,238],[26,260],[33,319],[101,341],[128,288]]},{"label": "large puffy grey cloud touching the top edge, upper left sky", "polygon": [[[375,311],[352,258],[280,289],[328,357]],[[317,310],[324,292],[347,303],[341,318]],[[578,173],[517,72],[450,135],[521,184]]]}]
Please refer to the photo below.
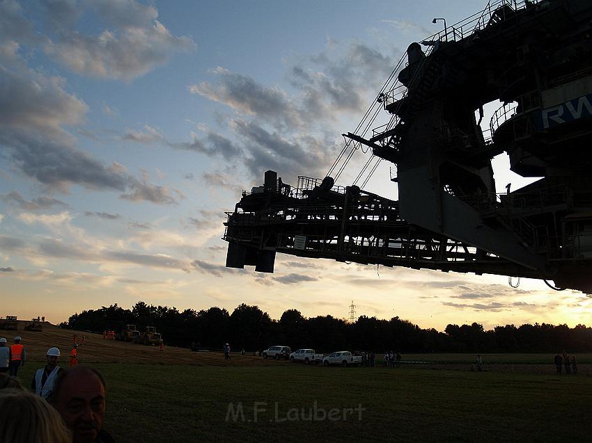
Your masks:
[{"label": "large puffy grey cloud touching the top edge, upper left sky", "polygon": [[[61,32],[44,45],[44,50],[79,74],[130,81],[165,65],[176,52],[196,49],[192,38],[178,37],[166,29],[157,20],[158,11],[153,6],[134,0],[86,0],[69,6],[62,15],[51,16]],[[85,12],[95,13],[107,29],[99,35],[75,31],[78,18]]]}]

